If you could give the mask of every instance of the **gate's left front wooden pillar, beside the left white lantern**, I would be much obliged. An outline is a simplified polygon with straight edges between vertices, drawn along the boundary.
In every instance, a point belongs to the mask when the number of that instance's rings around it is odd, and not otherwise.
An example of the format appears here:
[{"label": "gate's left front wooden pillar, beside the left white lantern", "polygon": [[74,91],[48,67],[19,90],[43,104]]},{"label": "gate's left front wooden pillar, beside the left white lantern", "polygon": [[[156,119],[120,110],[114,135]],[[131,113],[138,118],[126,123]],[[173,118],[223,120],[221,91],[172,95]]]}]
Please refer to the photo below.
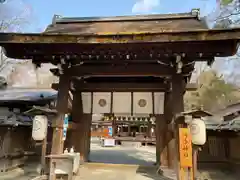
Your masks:
[{"label": "gate's left front wooden pillar, beside the left white lantern", "polygon": [[57,98],[58,114],[53,121],[53,137],[52,137],[52,154],[63,153],[63,123],[64,116],[68,113],[68,93],[69,93],[70,79],[67,75],[62,75],[59,78],[59,89]]}]

